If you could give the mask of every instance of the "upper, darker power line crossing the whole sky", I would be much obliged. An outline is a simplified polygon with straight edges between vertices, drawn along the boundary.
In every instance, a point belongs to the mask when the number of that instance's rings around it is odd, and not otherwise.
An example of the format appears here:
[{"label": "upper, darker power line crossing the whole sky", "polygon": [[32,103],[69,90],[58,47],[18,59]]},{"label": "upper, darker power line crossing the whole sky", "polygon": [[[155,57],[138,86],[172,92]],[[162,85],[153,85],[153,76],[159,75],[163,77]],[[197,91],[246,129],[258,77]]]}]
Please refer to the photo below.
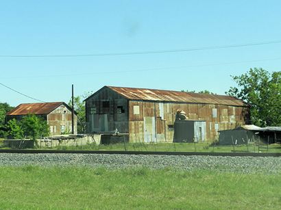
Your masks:
[{"label": "upper, darker power line crossing the whole sky", "polygon": [[219,45],[219,46],[209,46],[209,47],[194,47],[187,49],[167,49],[159,51],[134,51],[134,52],[124,52],[124,53],[90,53],[90,54],[73,54],[73,55],[0,55],[0,57],[95,57],[95,56],[117,56],[117,55],[142,55],[142,54],[156,54],[156,53],[180,53],[188,51],[204,51],[211,49],[227,49],[234,47],[249,47],[263,44],[279,44],[281,40],[267,41],[267,42],[253,42],[246,44],[229,44],[229,45]]}]

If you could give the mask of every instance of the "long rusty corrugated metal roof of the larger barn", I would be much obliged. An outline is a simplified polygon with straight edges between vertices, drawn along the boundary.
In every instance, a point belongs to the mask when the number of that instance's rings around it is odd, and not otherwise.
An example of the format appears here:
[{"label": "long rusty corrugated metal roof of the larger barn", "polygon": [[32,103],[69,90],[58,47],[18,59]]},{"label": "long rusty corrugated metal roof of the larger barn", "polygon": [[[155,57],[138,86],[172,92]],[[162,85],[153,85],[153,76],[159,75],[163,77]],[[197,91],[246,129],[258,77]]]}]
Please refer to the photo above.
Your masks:
[{"label": "long rusty corrugated metal roof of the larger barn", "polygon": [[234,106],[248,106],[247,103],[231,96],[199,94],[194,92],[180,92],[173,90],[154,90],[145,88],[121,88],[105,86],[121,94],[126,99],[144,101],[169,101],[186,103],[221,104]]}]

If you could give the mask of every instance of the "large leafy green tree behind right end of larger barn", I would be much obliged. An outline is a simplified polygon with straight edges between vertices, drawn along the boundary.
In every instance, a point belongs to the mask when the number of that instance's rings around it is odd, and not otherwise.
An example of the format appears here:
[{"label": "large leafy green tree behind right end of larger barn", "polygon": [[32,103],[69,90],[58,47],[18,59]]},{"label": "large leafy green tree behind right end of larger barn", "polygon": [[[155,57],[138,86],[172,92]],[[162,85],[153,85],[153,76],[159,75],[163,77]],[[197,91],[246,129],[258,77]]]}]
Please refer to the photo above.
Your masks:
[{"label": "large leafy green tree behind right end of larger barn", "polygon": [[231,76],[238,87],[231,87],[230,96],[251,105],[251,120],[261,127],[281,126],[281,72],[269,73],[262,68],[251,68],[240,76]]}]

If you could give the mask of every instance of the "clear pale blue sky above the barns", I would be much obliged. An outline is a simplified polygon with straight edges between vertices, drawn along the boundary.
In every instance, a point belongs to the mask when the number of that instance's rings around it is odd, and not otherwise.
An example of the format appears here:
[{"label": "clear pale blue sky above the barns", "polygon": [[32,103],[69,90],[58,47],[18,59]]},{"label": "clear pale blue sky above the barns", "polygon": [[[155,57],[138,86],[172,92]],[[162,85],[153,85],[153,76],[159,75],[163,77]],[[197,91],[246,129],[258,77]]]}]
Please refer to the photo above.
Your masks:
[{"label": "clear pale blue sky above the barns", "polygon": [[[281,40],[280,1],[1,1],[0,55],[190,49]],[[0,57],[0,83],[42,101],[103,86],[210,90],[230,75],[279,71],[281,44],[95,57]],[[32,99],[0,86],[0,101]]]}]

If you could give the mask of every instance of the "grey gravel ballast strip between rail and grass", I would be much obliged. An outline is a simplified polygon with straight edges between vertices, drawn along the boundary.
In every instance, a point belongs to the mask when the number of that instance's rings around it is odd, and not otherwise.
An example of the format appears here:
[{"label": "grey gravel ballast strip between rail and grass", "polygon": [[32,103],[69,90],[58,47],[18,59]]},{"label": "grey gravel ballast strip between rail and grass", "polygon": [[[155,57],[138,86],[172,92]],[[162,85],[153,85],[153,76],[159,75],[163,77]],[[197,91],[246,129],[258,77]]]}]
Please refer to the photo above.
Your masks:
[{"label": "grey gravel ballast strip between rail and grass", "polygon": [[12,154],[0,153],[0,166],[89,166],[112,169],[216,170],[222,172],[281,172],[281,157],[219,157],[180,155]]}]

